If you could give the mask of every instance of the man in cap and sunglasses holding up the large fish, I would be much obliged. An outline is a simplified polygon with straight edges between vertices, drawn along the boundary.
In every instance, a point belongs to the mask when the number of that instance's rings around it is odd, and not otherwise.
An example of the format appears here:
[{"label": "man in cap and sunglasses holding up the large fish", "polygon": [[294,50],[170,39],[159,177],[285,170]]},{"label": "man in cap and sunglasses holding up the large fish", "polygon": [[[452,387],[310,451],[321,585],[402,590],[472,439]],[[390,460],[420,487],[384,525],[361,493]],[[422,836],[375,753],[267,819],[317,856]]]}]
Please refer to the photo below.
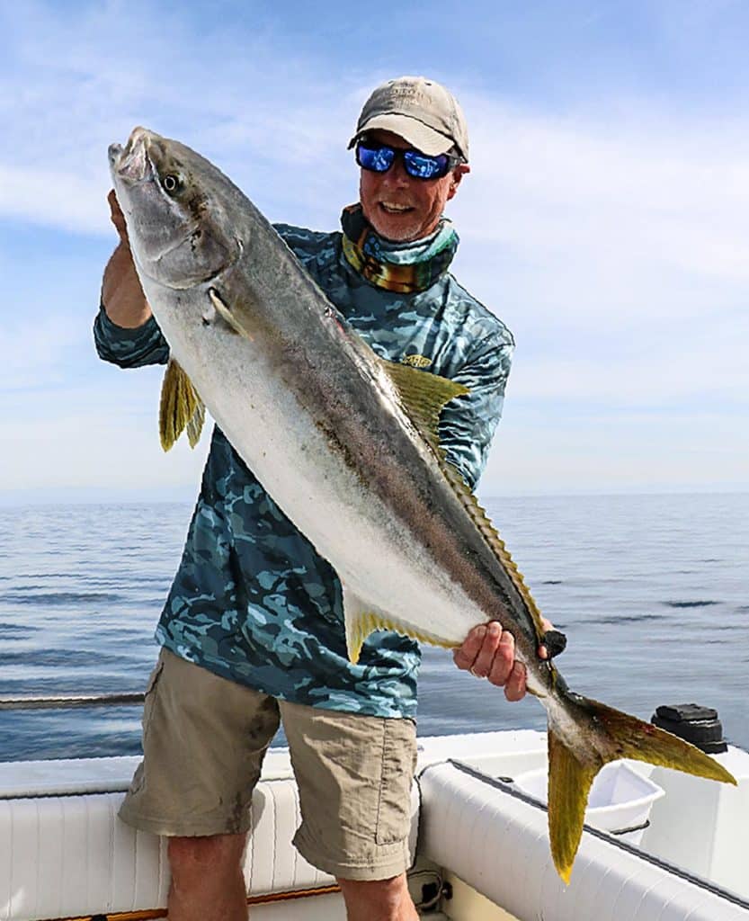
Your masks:
[{"label": "man in cap and sunglasses holding up the large fish", "polygon": [[[343,233],[276,229],[380,356],[470,388],[445,408],[440,438],[473,485],[513,342],[447,271],[458,238],[442,213],[469,171],[462,111],[439,84],[391,80],[365,104],[349,146],[360,200],[345,209]],[[104,272],[99,355],[121,367],[165,362],[113,193],[110,203],[121,241]],[[246,917],[249,803],[279,719],[298,780],[298,850],[337,878],[349,921],[413,921],[405,869],[418,647],[378,632],[348,662],[334,570],[218,429],[157,637],[145,757],[121,816],[170,836],[171,921]],[[525,693],[498,624],[475,628],[454,658],[509,700]]]}]

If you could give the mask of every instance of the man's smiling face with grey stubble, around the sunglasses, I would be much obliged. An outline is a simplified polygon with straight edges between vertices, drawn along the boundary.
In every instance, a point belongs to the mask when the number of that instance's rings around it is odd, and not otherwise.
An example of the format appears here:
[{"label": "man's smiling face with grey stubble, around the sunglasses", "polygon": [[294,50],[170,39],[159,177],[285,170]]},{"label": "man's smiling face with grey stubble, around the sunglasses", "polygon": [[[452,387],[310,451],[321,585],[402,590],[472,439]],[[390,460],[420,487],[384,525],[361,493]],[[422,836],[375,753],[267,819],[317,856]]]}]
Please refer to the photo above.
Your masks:
[{"label": "man's smiling face with grey stubble, around the sunglasses", "polygon": [[[390,131],[372,131],[367,136],[378,144],[399,150],[413,146]],[[455,194],[462,175],[468,170],[466,165],[461,164],[441,179],[415,179],[405,171],[402,157],[397,157],[384,173],[362,169],[359,201],[364,216],[385,239],[405,243],[428,237],[439,224],[445,204]]]}]

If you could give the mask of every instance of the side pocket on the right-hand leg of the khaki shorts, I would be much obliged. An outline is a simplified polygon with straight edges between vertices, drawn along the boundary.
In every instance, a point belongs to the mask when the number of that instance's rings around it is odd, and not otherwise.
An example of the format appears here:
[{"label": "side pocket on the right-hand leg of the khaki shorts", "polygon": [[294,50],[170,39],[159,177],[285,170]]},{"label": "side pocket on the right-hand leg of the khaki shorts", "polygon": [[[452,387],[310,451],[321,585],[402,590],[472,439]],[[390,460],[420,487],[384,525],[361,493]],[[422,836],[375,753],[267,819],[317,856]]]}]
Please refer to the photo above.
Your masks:
[{"label": "side pocket on the right-hand leg of the khaki shorts", "polygon": [[404,841],[411,832],[415,725],[410,719],[385,719],[384,723],[375,841],[378,845],[393,845]]}]

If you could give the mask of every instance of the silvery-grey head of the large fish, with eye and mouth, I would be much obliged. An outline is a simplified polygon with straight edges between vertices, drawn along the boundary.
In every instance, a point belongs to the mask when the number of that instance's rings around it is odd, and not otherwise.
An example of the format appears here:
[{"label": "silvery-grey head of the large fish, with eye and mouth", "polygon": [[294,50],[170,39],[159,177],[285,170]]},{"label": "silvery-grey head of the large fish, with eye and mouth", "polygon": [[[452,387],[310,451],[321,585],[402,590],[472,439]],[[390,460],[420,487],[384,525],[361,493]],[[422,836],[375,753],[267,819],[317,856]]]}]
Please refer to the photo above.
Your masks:
[{"label": "silvery-grey head of the large fish, with eye and mouth", "polygon": [[170,288],[210,282],[240,257],[226,177],[189,147],[135,128],[109,148],[111,177],[139,272]]}]

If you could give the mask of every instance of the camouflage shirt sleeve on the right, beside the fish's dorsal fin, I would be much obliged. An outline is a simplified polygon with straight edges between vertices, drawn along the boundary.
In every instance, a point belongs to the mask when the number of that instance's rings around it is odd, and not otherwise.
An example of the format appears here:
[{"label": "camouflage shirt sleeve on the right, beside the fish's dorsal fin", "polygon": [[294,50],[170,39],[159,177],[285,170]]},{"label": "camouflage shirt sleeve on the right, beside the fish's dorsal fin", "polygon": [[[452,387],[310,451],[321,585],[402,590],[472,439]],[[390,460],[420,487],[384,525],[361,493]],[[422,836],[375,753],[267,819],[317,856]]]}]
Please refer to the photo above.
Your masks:
[{"label": "camouflage shirt sleeve on the right, beside the fish's dorsal fin", "polygon": [[509,332],[484,340],[451,380],[471,392],[451,400],[439,419],[439,441],[447,460],[472,488],[484,472],[492,437],[502,415],[505,385],[515,344]]}]

